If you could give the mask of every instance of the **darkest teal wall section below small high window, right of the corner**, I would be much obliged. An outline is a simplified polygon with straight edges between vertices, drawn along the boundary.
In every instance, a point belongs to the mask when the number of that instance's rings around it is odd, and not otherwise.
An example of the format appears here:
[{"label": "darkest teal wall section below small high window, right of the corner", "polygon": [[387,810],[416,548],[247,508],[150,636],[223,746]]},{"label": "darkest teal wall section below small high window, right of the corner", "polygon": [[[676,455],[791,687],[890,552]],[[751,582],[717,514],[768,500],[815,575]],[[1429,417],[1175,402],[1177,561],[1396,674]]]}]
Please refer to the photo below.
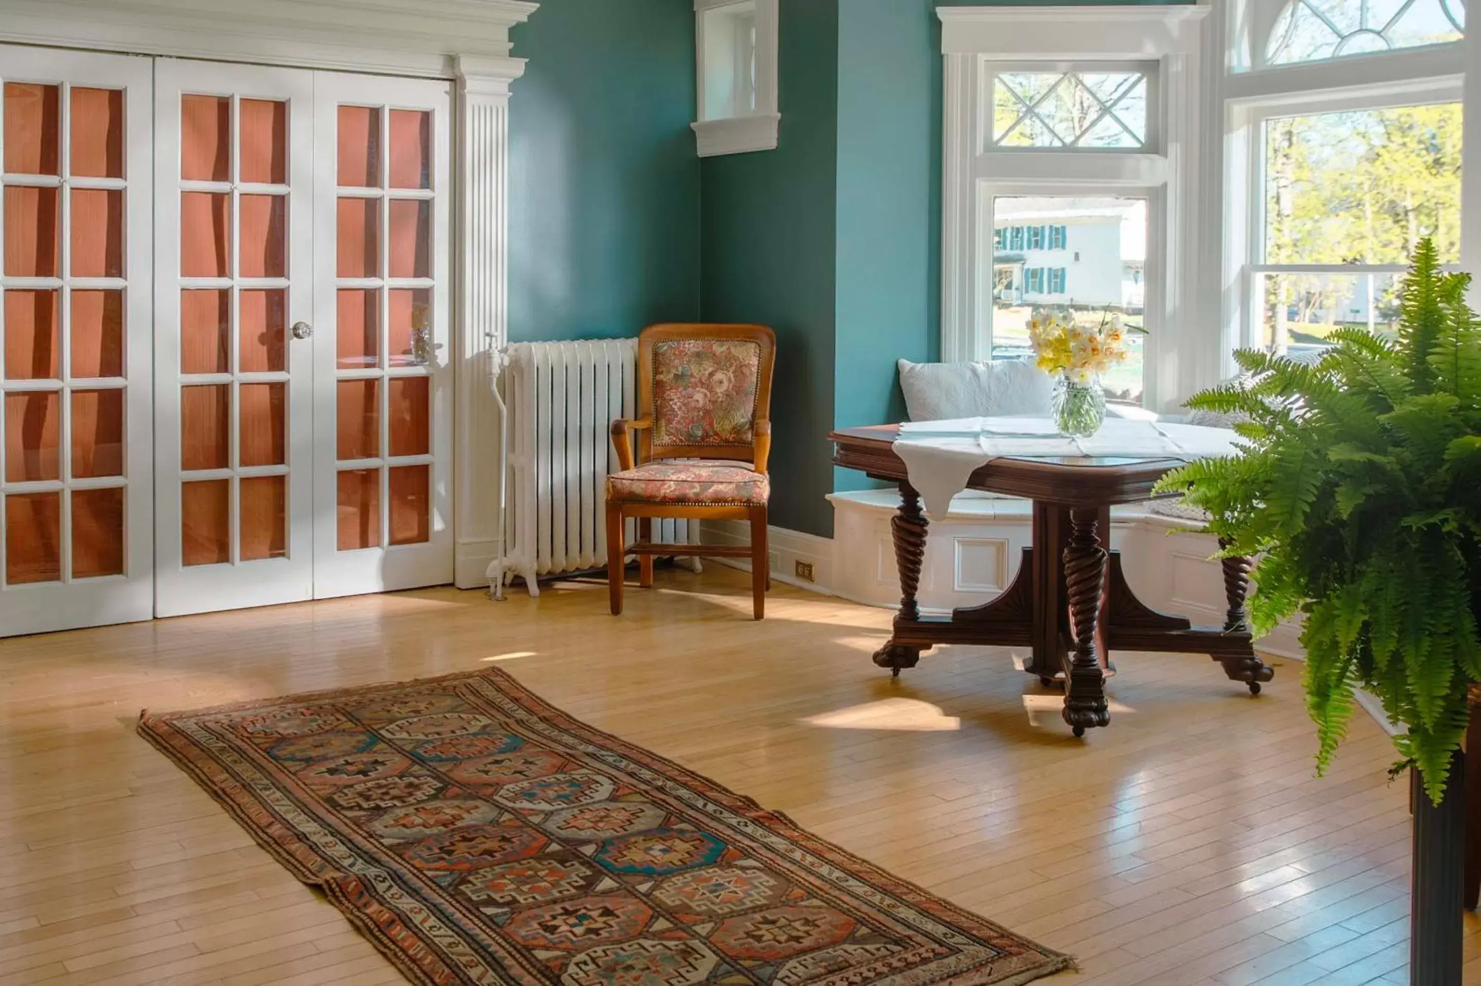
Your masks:
[{"label": "darkest teal wall section below small high window, right of the corner", "polygon": [[772,509],[779,527],[832,531],[838,9],[782,0],[778,148],[701,167],[701,317],[776,330]]}]

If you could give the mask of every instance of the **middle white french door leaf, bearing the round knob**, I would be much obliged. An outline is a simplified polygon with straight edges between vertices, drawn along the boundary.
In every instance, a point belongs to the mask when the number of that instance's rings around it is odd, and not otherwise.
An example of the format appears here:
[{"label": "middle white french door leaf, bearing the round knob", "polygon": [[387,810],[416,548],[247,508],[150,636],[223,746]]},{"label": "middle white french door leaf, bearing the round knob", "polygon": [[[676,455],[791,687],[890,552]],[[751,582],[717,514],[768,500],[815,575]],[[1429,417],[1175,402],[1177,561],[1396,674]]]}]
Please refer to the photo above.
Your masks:
[{"label": "middle white french door leaf, bearing the round knob", "polygon": [[157,225],[179,231],[158,255],[160,613],[307,598],[314,74],[182,61],[158,78]]}]

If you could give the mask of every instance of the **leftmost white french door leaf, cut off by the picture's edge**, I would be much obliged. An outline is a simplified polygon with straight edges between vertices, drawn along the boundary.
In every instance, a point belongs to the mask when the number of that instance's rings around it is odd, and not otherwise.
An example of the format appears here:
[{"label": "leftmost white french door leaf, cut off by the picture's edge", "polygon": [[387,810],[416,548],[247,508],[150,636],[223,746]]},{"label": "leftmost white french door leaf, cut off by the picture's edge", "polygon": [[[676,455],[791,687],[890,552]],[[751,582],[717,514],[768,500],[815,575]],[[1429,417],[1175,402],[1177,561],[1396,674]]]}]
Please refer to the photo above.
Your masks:
[{"label": "leftmost white french door leaf, cut off by the picture's edge", "polygon": [[0,634],[153,611],[150,62],[0,46]]}]

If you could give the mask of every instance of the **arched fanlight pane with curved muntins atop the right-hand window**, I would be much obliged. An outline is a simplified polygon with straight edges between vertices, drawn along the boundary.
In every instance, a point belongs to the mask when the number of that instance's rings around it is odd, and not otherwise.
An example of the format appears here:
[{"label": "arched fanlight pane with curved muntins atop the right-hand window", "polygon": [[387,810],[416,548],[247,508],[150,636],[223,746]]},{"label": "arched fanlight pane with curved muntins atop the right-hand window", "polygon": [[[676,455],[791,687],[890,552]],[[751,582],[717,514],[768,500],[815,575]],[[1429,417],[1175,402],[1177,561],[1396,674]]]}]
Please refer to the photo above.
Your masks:
[{"label": "arched fanlight pane with curved muntins atop the right-hand window", "polygon": [[1265,46],[1268,65],[1318,62],[1465,34],[1465,0],[1291,0]]}]

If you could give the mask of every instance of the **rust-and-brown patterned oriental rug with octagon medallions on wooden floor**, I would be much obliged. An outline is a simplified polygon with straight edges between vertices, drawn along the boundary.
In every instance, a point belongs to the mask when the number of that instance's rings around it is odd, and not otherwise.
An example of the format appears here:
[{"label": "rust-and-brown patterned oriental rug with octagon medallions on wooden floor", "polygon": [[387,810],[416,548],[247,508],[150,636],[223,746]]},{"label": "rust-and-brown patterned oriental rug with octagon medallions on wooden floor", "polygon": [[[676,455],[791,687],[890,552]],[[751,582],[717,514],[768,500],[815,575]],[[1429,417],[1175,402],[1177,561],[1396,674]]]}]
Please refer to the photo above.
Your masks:
[{"label": "rust-and-brown patterned oriental rug with octagon medallions on wooden floor", "polygon": [[499,671],[139,718],[416,983],[1026,983],[1069,959]]}]

